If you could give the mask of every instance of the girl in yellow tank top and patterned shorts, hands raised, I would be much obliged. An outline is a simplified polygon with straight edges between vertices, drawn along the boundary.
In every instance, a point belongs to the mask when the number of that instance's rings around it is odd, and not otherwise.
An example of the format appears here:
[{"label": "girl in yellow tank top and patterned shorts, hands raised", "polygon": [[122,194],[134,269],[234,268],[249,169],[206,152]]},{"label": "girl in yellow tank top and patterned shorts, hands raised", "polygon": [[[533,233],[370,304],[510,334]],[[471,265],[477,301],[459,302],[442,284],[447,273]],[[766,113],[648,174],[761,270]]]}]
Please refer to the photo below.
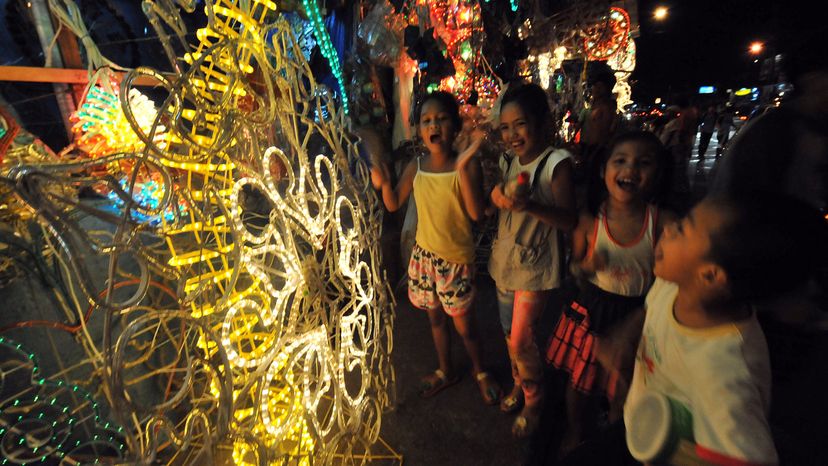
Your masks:
[{"label": "girl in yellow tank top and patterned shorts, hands raised", "polygon": [[482,218],[485,209],[480,163],[473,156],[483,133],[476,133],[471,145],[457,156],[452,146],[460,129],[460,115],[454,97],[446,92],[426,96],[419,118],[419,134],[428,155],[408,164],[396,190],[386,167],[372,168],[371,176],[374,186],[382,188],[385,206],[392,212],[414,191],[418,224],[408,266],[408,298],[414,307],[428,312],[440,364],[423,378],[420,395],[433,396],[460,379],[451,364],[448,314],[463,339],[484,401],[495,404],[500,387],[483,371],[474,314],[469,312],[474,299],[471,220]]}]

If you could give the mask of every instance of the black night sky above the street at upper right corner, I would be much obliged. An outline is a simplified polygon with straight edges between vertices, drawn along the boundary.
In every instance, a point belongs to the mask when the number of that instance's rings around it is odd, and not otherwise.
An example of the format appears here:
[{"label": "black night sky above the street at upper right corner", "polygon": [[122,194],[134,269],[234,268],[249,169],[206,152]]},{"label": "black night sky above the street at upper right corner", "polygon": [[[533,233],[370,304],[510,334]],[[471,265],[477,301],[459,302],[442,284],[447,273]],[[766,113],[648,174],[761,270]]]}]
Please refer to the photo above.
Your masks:
[{"label": "black night sky above the street at upper right corner", "polygon": [[[652,16],[659,5],[670,9],[660,23]],[[700,85],[753,85],[759,65],[747,51],[750,43],[766,43],[770,54],[820,29],[826,37],[826,6],[813,0],[639,0],[634,99],[651,103],[670,92],[695,93]]]}]

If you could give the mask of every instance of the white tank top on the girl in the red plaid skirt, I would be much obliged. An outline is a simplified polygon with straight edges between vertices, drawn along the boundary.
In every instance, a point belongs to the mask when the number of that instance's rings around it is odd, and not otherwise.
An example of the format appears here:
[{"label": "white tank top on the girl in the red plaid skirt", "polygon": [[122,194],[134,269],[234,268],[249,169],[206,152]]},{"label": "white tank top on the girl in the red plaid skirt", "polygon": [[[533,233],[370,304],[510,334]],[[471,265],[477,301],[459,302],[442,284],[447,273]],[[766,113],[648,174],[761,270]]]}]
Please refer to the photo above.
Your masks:
[{"label": "white tank top on the girl in the red plaid skirt", "polygon": [[621,296],[643,296],[653,283],[653,263],[655,261],[655,226],[658,221],[658,208],[647,206],[644,224],[638,238],[628,244],[621,244],[612,237],[604,209],[595,219],[592,234],[592,249],[606,254],[607,266],[592,276],[595,286],[604,291]]}]

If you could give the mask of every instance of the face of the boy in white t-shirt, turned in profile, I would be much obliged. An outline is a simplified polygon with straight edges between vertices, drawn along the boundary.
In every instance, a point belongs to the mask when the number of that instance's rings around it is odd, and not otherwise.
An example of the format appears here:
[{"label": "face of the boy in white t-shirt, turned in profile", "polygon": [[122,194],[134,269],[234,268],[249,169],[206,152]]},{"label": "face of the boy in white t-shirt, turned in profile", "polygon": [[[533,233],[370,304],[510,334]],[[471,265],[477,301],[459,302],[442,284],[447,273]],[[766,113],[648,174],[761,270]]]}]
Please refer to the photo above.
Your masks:
[{"label": "face of the boy in white t-shirt, turned in profile", "polygon": [[706,269],[716,267],[708,259],[710,234],[723,222],[722,211],[702,201],[681,221],[665,226],[655,249],[655,275],[687,285],[699,279]]}]

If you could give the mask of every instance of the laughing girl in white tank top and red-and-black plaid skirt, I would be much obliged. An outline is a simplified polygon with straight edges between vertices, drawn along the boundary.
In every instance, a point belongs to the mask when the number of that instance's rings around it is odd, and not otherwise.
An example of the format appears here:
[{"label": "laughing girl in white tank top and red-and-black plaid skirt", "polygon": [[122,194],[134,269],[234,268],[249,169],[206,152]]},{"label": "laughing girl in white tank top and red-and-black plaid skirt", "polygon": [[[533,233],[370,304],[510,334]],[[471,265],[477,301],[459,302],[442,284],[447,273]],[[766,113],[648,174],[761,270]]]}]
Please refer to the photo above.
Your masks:
[{"label": "laughing girl in white tank top and red-and-black plaid skirt", "polygon": [[[624,387],[609,377],[593,348],[613,326],[640,308],[653,280],[653,250],[669,212],[654,205],[665,191],[668,154],[649,132],[626,133],[613,141],[601,163],[600,189],[593,189],[590,212],[572,235],[573,272],[581,280],[577,299],[561,314],[547,360],[569,372],[566,453],[580,443],[590,394],[606,394],[610,418],[621,415]],[[619,393],[619,389],[622,393]]]}]

